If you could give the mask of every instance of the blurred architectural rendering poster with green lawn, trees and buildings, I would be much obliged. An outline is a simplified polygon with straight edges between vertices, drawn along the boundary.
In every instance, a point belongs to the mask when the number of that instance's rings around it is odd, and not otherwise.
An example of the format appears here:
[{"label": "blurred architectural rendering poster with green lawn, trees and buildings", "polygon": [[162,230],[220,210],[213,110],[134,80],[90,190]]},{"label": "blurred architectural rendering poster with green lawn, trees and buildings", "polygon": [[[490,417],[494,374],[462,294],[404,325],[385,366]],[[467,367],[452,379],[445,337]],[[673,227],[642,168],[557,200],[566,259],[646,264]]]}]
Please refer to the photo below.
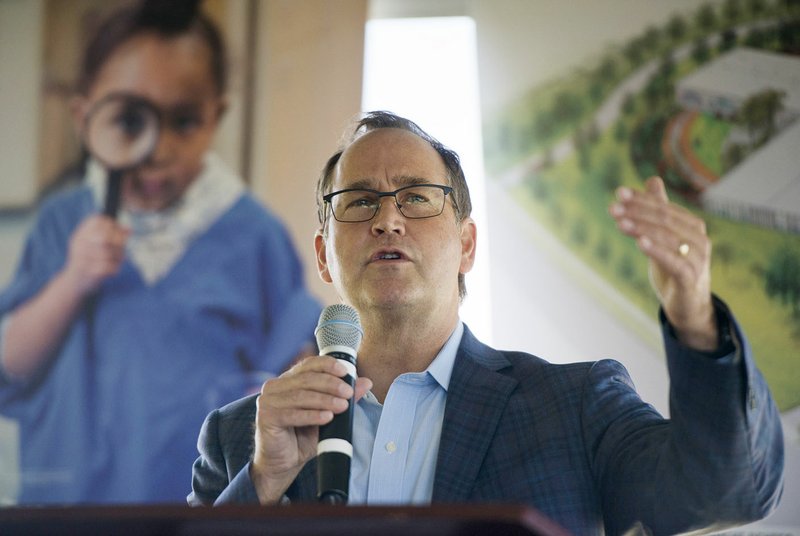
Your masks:
[{"label": "blurred architectural rendering poster with green lawn, trees and buildings", "polygon": [[[548,31],[542,19],[555,11],[547,9],[551,3],[508,4],[526,9],[524,16]],[[496,326],[496,339],[561,337],[562,353],[574,350],[573,356],[550,355],[542,343],[535,353],[549,360],[619,358],[643,396],[668,411],[666,387],[651,378],[665,377],[663,358],[641,361],[625,349],[620,356],[617,342],[606,351],[602,338],[612,328],[601,324],[614,317],[626,326],[622,338],[660,352],[646,259],[607,212],[617,187],[642,188],[646,178],[660,175],[670,198],[707,223],[713,290],[744,326],[784,420],[787,489],[771,522],[800,527],[800,3],[644,2],[661,11],[645,22],[631,21],[630,2],[582,4],[586,18],[602,11],[607,19],[552,21],[563,35],[551,48],[530,29],[531,58],[551,52],[556,58],[564,47],[581,46],[573,26],[591,32],[592,25],[611,24],[618,33],[527,87],[504,92],[490,81],[482,88],[491,101],[484,145],[498,261],[492,264],[494,310],[527,300],[542,311],[532,313],[538,322],[530,329],[513,318]],[[482,77],[494,69],[495,83],[524,78],[513,60],[524,37],[508,27],[492,32],[491,23],[501,23],[484,15],[490,20],[483,50],[500,57],[505,44],[508,55],[506,64],[491,65],[484,56]],[[504,65],[517,76],[503,72]],[[555,282],[543,275],[548,271]],[[526,294],[505,283],[525,277],[539,290]],[[553,290],[559,281],[563,288]],[[578,294],[589,300],[573,302]],[[550,329],[550,322],[565,321],[570,333]]]}]

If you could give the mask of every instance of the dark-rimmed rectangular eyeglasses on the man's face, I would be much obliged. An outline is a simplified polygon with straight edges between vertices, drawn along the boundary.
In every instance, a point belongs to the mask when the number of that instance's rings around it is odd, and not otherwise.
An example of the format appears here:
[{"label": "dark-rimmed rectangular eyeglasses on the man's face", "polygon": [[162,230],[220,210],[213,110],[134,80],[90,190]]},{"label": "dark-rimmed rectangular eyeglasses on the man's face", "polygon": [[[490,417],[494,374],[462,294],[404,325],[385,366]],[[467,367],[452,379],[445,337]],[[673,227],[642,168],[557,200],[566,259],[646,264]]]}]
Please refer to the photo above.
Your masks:
[{"label": "dark-rimmed rectangular eyeglasses on the man's face", "polygon": [[322,197],[330,205],[336,221],[357,223],[369,221],[381,208],[382,197],[394,197],[400,214],[409,219],[432,218],[444,211],[444,200],[452,192],[441,184],[414,184],[394,192],[379,192],[368,188],[348,188]]}]

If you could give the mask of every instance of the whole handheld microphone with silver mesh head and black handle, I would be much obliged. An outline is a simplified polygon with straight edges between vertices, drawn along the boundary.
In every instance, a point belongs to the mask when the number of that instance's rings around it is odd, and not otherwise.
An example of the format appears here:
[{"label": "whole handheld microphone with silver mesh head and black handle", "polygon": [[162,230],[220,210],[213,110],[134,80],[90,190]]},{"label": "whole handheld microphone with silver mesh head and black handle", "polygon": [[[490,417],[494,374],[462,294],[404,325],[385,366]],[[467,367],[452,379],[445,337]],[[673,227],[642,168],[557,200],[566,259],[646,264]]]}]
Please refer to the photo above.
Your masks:
[{"label": "whole handheld microphone with silver mesh head and black handle", "polygon": [[[347,368],[344,380],[355,388],[356,353],[364,335],[358,312],[349,305],[329,305],[323,309],[314,335],[320,355],[341,360]],[[334,415],[331,422],[319,428],[317,499],[322,503],[347,503],[353,458],[353,410],[351,399],[347,411]]]}]

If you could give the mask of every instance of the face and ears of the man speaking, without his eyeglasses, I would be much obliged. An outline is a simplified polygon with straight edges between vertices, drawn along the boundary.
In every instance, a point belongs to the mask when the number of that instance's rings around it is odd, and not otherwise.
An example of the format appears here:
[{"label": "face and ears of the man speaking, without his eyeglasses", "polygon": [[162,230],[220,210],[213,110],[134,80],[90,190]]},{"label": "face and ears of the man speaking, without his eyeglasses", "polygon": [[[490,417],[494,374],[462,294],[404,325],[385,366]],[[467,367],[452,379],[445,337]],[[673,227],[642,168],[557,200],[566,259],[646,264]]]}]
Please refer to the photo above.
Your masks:
[{"label": "face and ears of the man speaking, without his eyeglasses", "polygon": [[[393,191],[420,183],[448,185],[441,157],[415,134],[384,128],[345,150],[331,192]],[[458,274],[472,268],[475,224],[471,218],[458,223],[450,199],[439,216],[408,219],[387,196],[369,221],[339,222],[329,210],[326,225],[327,238],[318,235],[315,241],[320,277],[362,314],[373,308],[405,308],[421,316],[437,309],[457,312]]]}]

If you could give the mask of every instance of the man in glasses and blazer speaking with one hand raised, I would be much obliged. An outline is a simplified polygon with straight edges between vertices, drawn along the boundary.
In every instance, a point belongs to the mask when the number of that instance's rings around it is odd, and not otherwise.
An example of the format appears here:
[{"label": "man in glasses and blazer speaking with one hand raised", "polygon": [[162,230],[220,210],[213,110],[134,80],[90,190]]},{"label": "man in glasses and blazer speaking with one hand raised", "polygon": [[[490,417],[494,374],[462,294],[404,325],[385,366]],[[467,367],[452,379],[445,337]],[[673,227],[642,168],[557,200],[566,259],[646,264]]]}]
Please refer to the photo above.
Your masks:
[{"label": "man in glasses and blazer speaking with one hand raised", "polygon": [[209,415],[190,504],[317,500],[319,427],[354,397],[351,504],[528,504],[575,534],[720,529],[775,508],[778,412],[711,294],[703,221],[660,179],[621,189],[610,212],[649,258],[669,420],[616,361],[553,365],[470,333],[469,192],[458,156],[416,124],[366,115],[317,194],[319,274],[360,316],[359,377],[350,387],[341,360],[308,358]]}]

